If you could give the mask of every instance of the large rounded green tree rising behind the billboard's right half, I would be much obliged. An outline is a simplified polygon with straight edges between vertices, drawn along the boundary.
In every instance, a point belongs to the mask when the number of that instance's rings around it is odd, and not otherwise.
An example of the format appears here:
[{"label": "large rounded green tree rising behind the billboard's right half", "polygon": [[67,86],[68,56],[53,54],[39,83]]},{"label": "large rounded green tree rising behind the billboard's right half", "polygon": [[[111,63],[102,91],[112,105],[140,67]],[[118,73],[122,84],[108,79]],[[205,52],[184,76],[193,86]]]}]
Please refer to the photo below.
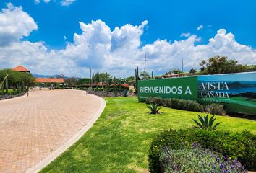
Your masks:
[{"label": "large rounded green tree rising behind the billboard's right half", "polygon": [[215,56],[208,62],[202,60],[200,68],[203,74],[229,74],[246,71],[246,67],[227,56]]}]

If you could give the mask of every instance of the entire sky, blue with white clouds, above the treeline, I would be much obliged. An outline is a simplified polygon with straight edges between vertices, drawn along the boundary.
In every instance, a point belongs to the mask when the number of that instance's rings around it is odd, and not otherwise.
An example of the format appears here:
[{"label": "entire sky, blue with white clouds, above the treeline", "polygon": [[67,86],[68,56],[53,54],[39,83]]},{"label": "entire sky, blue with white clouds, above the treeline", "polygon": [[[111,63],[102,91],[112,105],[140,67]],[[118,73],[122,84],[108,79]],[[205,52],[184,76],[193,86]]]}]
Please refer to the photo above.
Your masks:
[{"label": "entire sky, blue with white clouds, above the treeline", "polygon": [[0,2],[0,68],[35,74],[161,74],[221,55],[256,64],[256,1]]}]

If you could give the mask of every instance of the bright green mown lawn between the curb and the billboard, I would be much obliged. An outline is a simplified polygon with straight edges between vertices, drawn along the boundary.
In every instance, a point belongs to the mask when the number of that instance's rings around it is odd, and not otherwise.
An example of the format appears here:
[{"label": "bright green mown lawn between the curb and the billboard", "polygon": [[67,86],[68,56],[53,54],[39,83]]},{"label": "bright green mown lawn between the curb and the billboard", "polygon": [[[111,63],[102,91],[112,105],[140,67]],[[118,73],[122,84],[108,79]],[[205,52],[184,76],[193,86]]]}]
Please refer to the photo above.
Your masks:
[{"label": "bright green mown lawn between the curb and the billboard", "polygon": [[[148,114],[135,97],[106,98],[106,108],[87,133],[42,172],[147,172],[150,141],[169,128],[189,128],[197,112],[163,108]],[[202,113],[199,113],[202,115]],[[256,122],[218,116],[218,129],[256,133]]]}]

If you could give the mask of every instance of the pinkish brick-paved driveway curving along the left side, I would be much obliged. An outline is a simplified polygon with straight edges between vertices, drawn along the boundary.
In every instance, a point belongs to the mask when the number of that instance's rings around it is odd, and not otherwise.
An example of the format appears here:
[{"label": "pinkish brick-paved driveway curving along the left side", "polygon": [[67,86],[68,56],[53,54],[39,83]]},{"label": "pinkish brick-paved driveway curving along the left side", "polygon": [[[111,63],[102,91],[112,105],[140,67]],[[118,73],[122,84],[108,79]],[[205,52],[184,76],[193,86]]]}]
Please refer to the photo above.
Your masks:
[{"label": "pinkish brick-paved driveway curving along the left side", "polygon": [[32,91],[0,101],[0,172],[25,172],[72,138],[101,107],[74,90]]}]

